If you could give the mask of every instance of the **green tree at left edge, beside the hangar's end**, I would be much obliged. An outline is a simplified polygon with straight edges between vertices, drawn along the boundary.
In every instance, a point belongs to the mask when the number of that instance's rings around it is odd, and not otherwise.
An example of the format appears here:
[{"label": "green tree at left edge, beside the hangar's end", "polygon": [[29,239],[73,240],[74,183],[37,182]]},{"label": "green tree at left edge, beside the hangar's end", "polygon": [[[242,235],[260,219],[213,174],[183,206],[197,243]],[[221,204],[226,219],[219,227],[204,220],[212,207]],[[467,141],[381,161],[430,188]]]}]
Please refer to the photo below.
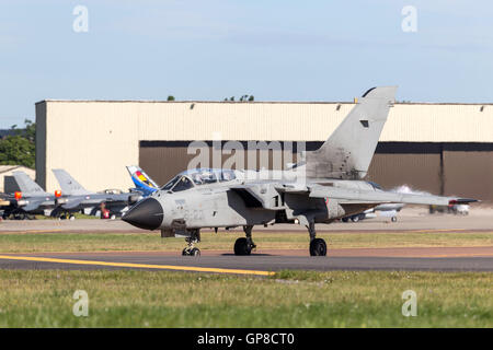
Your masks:
[{"label": "green tree at left edge, beside the hangar's end", "polygon": [[24,124],[24,129],[19,129],[15,125],[12,126],[15,135],[0,140],[0,164],[35,167],[36,125],[28,119],[25,119]]}]

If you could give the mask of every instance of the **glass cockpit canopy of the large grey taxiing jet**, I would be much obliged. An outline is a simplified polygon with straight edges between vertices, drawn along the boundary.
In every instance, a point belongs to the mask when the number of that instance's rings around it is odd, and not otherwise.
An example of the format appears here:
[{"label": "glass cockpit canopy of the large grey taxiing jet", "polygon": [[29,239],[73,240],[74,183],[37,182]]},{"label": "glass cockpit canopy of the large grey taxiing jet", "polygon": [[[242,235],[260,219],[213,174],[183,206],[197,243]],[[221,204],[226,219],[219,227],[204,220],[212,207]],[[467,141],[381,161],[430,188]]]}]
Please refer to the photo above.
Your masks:
[{"label": "glass cockpit canopy of the large grey taxiing jet", "polygon": [[177,192],[186,190],[194,186],[215,184],[217,182],[230,182],[237,176],[232,170],[223,168],[193,168],[181,172],[173,177],[168,184],[161,187],[162,190],[171,190]]}]

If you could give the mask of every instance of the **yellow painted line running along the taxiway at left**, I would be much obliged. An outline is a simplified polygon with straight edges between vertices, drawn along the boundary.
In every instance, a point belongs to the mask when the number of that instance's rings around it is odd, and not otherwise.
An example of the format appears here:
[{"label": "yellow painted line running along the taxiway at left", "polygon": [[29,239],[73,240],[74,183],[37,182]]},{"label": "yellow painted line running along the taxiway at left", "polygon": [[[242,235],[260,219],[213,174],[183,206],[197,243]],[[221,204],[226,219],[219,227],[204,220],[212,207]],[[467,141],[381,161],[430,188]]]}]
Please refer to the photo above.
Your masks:
[{"label": "yellow painted line running along the taxiway at left", "polygon": [[59,259],[59,258],[43,258],[34,256],[11,256],[0,255],[0,259],[4,260],[23,260],[23,261],[38,261],[38,262],[58,262],[72,265],[95,265],[95,266],[111,266],[111,267],[130,267],[145,269],[160,269],[160,270],[180,270],[193,272],[216,272],[216,273],[234,273],[234,275],[255,275],[255,276],[273,276],[273,271],[256,271],[256,270],[238,270],[238,269],[220,269],[213,267],[196,267],[196,266],[173,266],[173,265],[153,265],[153,264],[134,264],[134,262],[112,262],[112,261],[94,261],[94,260],[77,260],[77,259]]}]

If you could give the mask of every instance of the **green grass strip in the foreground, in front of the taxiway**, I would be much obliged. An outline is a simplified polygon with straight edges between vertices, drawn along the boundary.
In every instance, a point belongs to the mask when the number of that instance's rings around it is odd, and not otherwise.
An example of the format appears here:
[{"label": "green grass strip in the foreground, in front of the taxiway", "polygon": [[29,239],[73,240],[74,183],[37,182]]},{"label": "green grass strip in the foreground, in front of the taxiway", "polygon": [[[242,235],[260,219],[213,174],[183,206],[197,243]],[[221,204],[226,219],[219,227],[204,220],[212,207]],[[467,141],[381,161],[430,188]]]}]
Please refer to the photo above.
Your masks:
[{"label": "green grass strip in the foreground, in front of the taxiway", "polygon": [[[492,327],[493,273],[1,270],[0,327]],[[89,316],[72,314],[76,290]],[[417,294],[417,316],[401,313]]]}]

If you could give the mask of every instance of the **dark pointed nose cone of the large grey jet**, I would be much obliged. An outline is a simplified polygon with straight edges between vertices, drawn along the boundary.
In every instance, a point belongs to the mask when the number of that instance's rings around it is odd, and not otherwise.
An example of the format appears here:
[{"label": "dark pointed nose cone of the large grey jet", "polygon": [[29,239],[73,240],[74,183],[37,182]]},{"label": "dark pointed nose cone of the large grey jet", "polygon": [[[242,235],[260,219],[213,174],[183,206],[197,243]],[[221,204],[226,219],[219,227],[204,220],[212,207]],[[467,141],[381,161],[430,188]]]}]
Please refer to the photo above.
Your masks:
[{"label": "dark pointed nose cone of the large grey jet", "polygon": [[131,207],[122,220],[144,230],[156,230],[162,223],[163,211],[154,198],[146,198]]}]

